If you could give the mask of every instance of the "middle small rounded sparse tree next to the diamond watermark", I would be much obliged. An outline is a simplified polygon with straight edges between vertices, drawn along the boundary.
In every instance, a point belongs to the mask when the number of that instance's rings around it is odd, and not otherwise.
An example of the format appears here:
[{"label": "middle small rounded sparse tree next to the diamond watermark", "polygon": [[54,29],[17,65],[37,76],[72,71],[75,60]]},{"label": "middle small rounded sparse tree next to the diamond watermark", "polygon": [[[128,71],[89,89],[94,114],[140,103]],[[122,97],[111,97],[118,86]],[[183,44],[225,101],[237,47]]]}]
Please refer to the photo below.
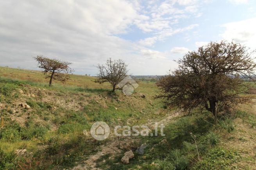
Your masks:
[{"label": "middle small rounded sparse tree next to the diamond watermark", "polygon": [[106,66],[98,64],[98,78],[95,80],[96,83],[109,82],[113,89],[112,92],[115,92],[116,85],[122,81],[128,73],[127,64],[123,60],[112,60],[111,58],[107,59]]}]

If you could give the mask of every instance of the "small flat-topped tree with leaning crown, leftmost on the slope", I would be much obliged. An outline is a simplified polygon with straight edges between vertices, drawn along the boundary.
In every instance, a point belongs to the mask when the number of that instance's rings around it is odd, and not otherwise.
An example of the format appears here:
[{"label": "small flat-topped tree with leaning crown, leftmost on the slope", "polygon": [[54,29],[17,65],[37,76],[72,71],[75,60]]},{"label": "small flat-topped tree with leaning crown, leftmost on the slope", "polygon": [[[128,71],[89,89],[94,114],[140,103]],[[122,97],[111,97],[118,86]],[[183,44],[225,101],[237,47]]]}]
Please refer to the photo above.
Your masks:
[{"label": "small flat-topped tree with leaning crown, leftmost on the slope", "polygon": [[73,71],[69,67],[69,65],[71,64],[70,62],[51,59],[42,55],[34,58],[36,61],[38,61],[38,67],[45,69],[43,71],[46,76],[45,78],[50,78],[49,86],[52,86],[52,80],[58,80],[64,83],[66,80],[70,79],[68,73],[71,73]]}]

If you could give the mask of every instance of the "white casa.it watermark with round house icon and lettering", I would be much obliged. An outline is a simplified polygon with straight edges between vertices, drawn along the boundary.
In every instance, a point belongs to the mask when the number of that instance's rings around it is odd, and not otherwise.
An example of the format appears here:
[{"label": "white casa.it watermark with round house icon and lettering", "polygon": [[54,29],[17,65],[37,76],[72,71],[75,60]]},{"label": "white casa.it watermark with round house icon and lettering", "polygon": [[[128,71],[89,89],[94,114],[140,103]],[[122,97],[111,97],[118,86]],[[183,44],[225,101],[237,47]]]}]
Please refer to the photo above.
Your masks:
[{"label": "white casa.it watermark with round house icon and lettering", "polygon": [[[158,136],[158,128],[160,128],[160,135],[165,136],[163,133],[163,128],[165,126],[158,123],[155,124],[154,133],[149,129],[148,126],[116,126],[114,128],[114,134],[116,136]],[[152,133],[150,133],[152,132]],[[110,129],[105,122],[95,122],[91,126],[91,136],[96,140],[104,140],[109,136]]]}]

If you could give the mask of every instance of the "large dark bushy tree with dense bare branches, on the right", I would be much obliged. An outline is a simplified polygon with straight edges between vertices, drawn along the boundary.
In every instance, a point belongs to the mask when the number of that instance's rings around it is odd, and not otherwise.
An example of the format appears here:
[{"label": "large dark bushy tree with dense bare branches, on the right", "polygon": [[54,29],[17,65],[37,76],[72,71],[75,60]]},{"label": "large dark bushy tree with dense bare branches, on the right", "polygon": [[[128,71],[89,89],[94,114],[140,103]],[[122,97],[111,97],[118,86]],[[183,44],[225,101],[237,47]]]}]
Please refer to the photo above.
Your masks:
[{"label": "large dark bushy tree with dense bare branches, on the right", "polygon": [[188,52],[177,62],[178,69],[157,83],[168,106],[184,110],[201,107],[210,111],[215,120],[220,112],[231,113],[235,104],[246,101],[240,94],[252,88],[256,63],[254,51],[241,44],[209,43],[198,51]]}]

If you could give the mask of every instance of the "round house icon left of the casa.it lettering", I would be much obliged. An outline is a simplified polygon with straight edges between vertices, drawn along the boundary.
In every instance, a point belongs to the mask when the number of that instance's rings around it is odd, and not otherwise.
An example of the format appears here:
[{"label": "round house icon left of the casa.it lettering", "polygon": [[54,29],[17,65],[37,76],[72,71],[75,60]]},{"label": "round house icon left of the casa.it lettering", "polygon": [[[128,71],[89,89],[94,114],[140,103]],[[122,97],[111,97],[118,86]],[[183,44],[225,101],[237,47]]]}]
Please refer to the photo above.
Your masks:
[{"label": "round house icon left of the casa.it lettering", "polygon": [[105,122],[95,122],[91,126],[91,136],[96,140],[104,140],[109,136],[110,129]]}]

